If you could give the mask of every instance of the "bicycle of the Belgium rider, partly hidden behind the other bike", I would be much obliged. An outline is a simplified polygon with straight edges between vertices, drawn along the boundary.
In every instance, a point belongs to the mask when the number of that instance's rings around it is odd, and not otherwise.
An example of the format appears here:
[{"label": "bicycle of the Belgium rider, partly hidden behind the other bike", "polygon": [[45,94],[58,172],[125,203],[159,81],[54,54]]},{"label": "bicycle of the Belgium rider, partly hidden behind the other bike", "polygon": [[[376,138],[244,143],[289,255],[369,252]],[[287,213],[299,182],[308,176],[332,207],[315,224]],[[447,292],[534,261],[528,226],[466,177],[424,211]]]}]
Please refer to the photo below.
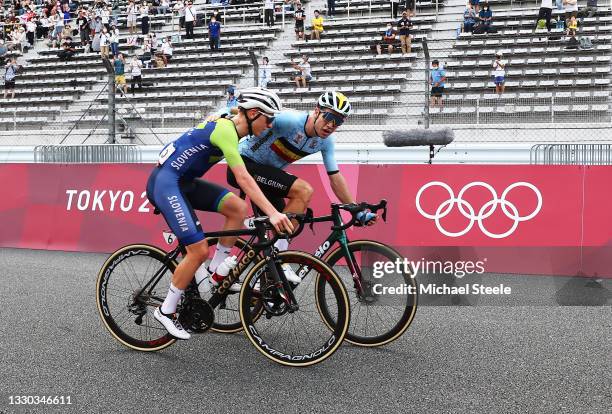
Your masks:
[{"label": "bicycle of the Belgium rider, partly hidden behind the other bike", "polygon": [[[258,210],[255,206],[255,214]],[[382,210],[382,218],[386,220],[387,201],[381,200],[378,204],[365,202],[358,204],[332,204],[331,215],[312,217],[309,209],[304,217],[304,223],[332,222],[331,233],[326,240],[315,250],[314,256],[322,258],[333,267],[336,274],[343,280],[349,289],[351,301],[351,324],[345,340],[358,346],[374,347],[388,344],[399,338],[410,327],[418,305],[418,287],[412,268],[404,261],[393,248],[374,240],[350,241],[346,229],[357,223],[357,213],[369,209],[376,213]],[[343,223],[340,211],[351,213],[351,220]],[[295,237],[294,234],[292,237]],[[209,244],[216,244],[216,239],[210,239]],[[330,250],[334,244],[338,246]],[[248,242],[238,239],[236,249],[248,248]],[[400,261],[403,271],[386,272],[381,278],[374,277],[376,263],[397,263]],[[300,272],[304,269],[298,269]],[[379,285],[378,289],[375,285]],[[380,294],[383,287],[402,289],[403,294]],[[299,285],[296,289],[299,288]],[[317,308],[325,321],[333,324],[333,317],[327,312],[324,302],[324,286],[317,291]],[[389,291],[389,290],[387,290]],[[234,333],[242,329],[238,315],[230,305],[224,307],[224,322],[216,322],[213,329],[218,332]]]}]

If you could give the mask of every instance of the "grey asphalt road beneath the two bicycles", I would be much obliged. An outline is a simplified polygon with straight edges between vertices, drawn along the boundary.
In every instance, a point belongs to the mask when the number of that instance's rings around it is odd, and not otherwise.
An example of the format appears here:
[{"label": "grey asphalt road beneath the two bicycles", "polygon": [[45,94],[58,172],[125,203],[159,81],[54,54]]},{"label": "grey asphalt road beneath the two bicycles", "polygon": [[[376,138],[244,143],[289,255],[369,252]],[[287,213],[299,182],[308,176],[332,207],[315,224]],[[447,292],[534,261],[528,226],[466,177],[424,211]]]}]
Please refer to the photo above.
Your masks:
[{"label": "grey asphalt road beneath the two bicycles", "polygon": [[[126,349],[96,309],[104,258],[0,249],[0,413],[600,413],[612,406],[609,300],[421,306],[394,343],[343,345],[324,363],[295,369],[268,361],[242,334],[206,333],[154,354]],[[10,405],[11,396],[28,395],[70,396],[72,405]]]}]

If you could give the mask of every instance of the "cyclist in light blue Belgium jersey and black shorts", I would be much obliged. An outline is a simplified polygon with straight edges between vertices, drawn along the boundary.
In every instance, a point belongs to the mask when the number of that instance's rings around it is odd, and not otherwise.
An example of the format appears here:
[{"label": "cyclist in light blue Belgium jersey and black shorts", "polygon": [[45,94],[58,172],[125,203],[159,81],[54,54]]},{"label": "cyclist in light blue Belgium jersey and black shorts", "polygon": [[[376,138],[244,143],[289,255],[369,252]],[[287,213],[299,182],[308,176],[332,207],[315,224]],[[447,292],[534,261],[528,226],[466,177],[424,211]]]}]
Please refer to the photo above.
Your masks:
[{"label": "cyclist in light blue Belgium jersey and black shorts", "polygon": [[[274,117],[271,128],[261,134],[251,134],[240,143],[240,154],[247,170],[279,211],[303,213],[306,210],[312,197],[312,186],[284,169],[317,152],[323,156],[334,194],[342,203],[355,202],[336,163],[333,135],[350,113],[351,104],[344,94],[327,91],[319,97],[317,107],[311,113],[282,111]],[[237,187],[236,178],[228,169],[228,183]],[[288,199],[286,205],[285,198]],[[372,225],[377,216],[363,211],[358,218],[361,224]],[[281,251],[287,250],[288,241],[278,240],[276,247]],[[300,281],[290,267],[286,267],[285,275],[293,283]]]}]

